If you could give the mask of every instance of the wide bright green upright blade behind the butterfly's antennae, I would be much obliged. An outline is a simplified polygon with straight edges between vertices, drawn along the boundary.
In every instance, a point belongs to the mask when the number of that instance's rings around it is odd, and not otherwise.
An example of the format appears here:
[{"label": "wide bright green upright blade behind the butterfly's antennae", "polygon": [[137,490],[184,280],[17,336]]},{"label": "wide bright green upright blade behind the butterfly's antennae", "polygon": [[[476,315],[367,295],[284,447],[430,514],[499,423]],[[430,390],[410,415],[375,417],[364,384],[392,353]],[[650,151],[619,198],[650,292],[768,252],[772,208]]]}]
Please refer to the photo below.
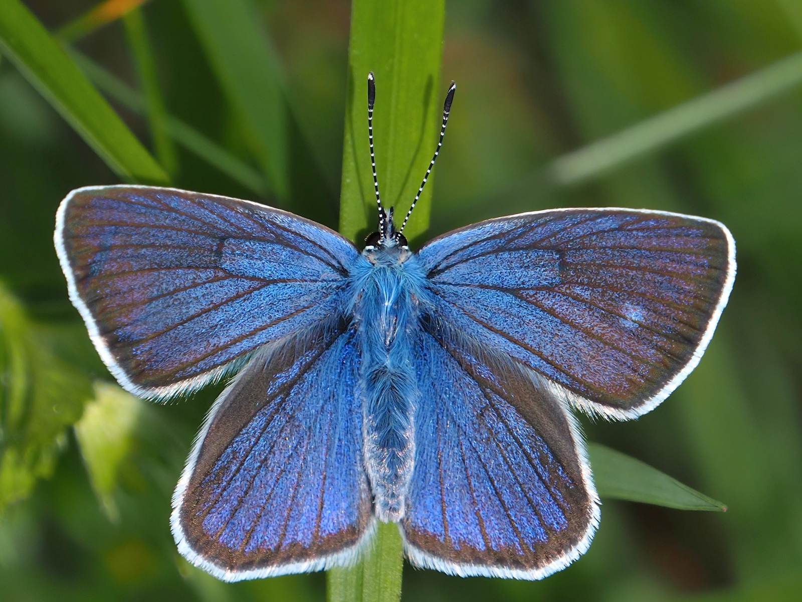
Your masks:
[{"label": "wide bright green upright blade behind the butterfly's antennae", "polygon": [[[340,232],[351,240],[375,230],[377,221],[367,145],[367,74],[373,71],[376,78],[379,190],[384,205],[395,205],[403,219],[437,142],[445,94],[439,86],[443,22],[443,0],[354,0],[351,6],[340,194]],[[431,182],[404,231],[410,240],[427,230],[430,206]]]}]

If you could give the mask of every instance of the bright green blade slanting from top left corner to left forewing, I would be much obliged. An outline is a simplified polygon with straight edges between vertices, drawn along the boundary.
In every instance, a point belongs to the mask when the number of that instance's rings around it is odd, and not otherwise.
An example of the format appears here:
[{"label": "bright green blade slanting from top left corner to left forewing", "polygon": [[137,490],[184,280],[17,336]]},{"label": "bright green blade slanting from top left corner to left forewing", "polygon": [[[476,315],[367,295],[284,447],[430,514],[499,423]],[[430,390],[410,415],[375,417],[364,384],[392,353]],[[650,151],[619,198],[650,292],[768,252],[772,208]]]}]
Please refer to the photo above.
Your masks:
[{"label": "bright green blade slanting from top left corner to left forewing", "polygon": [[169,181],[123,120],[19,0],[0,0],[0,50],[119,177],[160,184]]}]

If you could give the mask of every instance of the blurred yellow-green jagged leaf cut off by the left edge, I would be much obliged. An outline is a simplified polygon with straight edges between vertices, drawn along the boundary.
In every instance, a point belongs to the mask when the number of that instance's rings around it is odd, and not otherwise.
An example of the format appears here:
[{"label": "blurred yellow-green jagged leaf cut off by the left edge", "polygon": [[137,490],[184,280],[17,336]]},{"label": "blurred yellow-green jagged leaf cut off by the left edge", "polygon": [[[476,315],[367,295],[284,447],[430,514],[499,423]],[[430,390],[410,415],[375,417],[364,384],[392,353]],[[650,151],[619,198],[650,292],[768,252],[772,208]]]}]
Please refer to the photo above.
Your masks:
[{"label": "blurred yellow-green jagged leaf cut off by the left edge", "polygon": [[0,513],[53,474],[89,381],[59,360],[0,285]]}]

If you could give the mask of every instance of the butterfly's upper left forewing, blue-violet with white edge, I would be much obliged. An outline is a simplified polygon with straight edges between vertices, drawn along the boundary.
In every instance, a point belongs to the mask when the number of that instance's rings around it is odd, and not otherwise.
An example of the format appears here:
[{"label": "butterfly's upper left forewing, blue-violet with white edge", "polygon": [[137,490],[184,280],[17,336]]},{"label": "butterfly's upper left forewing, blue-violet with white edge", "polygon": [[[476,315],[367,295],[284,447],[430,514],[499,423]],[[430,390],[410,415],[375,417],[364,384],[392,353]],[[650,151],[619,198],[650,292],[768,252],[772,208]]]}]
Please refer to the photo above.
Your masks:
[{"label": "butterfly's upper left forewing, blue-violet with white edge", "polygon": [[78,189],[55,245],[70,297],[132,393],[197,388],[337,311],[356,248],[248,201],[148,186]]}]

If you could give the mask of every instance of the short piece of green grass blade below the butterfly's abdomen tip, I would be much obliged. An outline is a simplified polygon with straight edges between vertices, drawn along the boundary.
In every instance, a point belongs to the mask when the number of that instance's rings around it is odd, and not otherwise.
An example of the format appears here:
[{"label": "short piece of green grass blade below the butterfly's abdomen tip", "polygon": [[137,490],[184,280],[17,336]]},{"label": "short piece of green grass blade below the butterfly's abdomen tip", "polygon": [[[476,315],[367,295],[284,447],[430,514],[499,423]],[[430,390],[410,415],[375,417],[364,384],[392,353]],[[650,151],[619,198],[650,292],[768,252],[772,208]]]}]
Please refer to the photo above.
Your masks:
[{"label": "short piece of green grass blade below the butterfly's abdomen tip", "polygon": [[355,567],[328,572],[329,602],[398,602],[403,554],[395,523],[379,523],[365,558]]}]

